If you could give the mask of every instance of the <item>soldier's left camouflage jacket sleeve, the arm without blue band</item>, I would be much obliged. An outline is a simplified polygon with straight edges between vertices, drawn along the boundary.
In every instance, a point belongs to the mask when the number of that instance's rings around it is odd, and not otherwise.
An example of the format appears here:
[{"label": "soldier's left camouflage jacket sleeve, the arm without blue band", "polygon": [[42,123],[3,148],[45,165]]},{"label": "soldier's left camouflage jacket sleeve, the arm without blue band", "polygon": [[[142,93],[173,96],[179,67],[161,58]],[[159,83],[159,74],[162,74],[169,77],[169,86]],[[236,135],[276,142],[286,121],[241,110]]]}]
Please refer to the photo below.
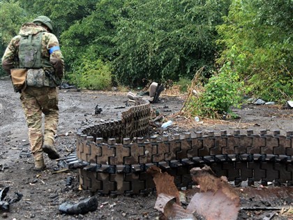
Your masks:
[{"label": "soldier's left camouflage jacket sleeve, the arm without blue band", "polygon": [[12,38],[2,57],[2,67],[6,73],[10,75],[10,69],[18,66],[18,45],[20,43],[20,36]]}]

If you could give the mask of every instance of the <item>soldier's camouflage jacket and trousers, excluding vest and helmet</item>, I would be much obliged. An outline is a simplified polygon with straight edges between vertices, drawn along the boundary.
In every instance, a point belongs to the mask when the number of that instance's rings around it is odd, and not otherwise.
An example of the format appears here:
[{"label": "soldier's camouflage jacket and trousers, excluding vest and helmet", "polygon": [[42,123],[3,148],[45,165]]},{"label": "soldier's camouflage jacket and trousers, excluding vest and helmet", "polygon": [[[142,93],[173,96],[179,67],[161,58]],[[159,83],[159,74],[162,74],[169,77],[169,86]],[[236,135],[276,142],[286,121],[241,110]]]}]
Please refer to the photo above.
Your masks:
[{"label": "soldier's camouflage jacket and trousers, excluding vest and helmet", "polygon": [[[15,36],[10,41],[2,57],[3,69],[10,74],[10,70],[12,68],[19,67],[20,59],[18,54],[21,35],[38,34],[40,31],[44,31],[41,41],[41,57],[42,59],[50,61],[49,64],[51,65],[45,66],[45,69],[53,73],[52,75],[61,81],[64,72],[63,56],[60,50],[54,50],[50,53],[50,49],[52,47],[59,47],[57,37],[54,36],[54,34],[47,32],[47,29],[44,27],[38,26],[34,23],[22,25],[20,35]],[[27,125],[29,127],[31,153],[33,154],[35,163],[40,161],[39,163],[43,164],[44,168],[43,145],[46,142],[49,143],[49,145],[54,144],[54,135],[57,133],[57,125],[59,120],[57,85],[55,82],[51,82],[53,80],[51,78],[46,80],[50,81],[50,84],[47,87],[38,88],[27,86],[24,90],[20,91],[22,108],[24,109]],[[42,132],[42,112],[45,115],[44,134]],[[49,153],[48,156],[50,157]],[[57,158],[54,156],[54,158],[51,159]]]}]

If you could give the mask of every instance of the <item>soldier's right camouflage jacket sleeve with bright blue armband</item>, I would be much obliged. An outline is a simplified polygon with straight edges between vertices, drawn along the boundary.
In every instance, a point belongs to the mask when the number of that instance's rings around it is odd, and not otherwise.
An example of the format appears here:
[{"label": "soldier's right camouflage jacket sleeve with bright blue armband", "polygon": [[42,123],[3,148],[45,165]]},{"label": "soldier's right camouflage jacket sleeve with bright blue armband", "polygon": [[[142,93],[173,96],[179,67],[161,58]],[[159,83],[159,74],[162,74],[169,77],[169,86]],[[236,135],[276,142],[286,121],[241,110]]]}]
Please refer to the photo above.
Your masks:
[{"label": "soldier's right camouflage jacket sleeve with bright blue armband", "polygon": [[62,78],[64,74],[64,59],[61,53],[59,42],[54,34],[49,34],[47,50],[50,51],[50,63],[54,67],[55,74]]}]

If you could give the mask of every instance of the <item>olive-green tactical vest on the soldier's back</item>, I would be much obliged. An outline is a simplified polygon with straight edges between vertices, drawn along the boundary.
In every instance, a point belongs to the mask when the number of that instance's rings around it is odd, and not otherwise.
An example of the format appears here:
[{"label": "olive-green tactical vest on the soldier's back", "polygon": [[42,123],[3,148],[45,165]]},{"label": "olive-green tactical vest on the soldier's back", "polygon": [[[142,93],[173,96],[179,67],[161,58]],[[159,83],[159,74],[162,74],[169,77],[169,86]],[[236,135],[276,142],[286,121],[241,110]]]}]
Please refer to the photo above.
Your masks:
[{"label": "olive-green tactical vest on the soldier's back", "polygon": [[36,35],[25,35],[20,38],[18,57],[20,68],[52,67],[48,59],[42,57],[43,31]]}]

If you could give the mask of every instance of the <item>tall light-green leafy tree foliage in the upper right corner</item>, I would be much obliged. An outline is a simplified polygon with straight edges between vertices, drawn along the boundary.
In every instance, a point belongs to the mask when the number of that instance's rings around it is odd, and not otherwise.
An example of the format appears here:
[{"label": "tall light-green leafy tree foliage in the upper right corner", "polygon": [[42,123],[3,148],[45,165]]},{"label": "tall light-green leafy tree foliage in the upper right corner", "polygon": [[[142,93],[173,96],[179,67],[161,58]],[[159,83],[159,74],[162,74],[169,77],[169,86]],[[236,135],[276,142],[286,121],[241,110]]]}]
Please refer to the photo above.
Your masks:
[{"label": "tall light-green leafy tree foliage in the upper right corner", "polygon": [[218,27],[218,43],[227,47],[218,63],[234,50],[235,71],[246,88],[267,101],[293,96],[292,10],[290,0],[234,0],[225,24]]}]

